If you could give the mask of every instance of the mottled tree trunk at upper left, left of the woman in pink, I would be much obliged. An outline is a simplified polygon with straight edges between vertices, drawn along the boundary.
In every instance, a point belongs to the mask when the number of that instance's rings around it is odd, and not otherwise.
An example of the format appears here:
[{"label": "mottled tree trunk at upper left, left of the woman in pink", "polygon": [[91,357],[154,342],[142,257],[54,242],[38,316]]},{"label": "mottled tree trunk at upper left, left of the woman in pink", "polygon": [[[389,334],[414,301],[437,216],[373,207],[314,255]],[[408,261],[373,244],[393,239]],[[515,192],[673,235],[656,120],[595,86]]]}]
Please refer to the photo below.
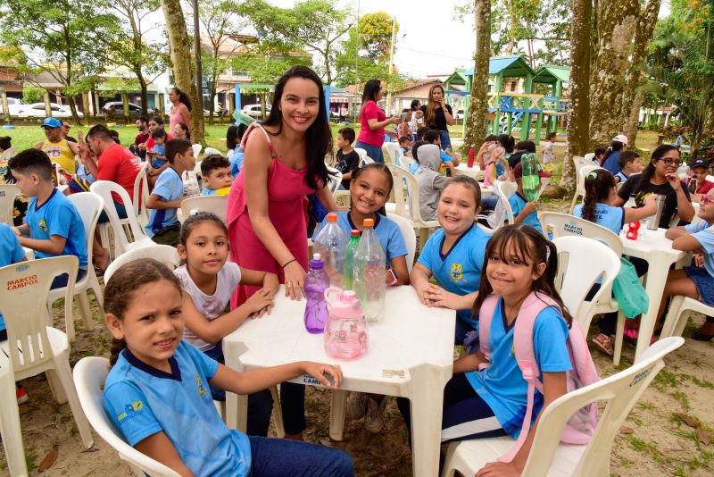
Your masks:
[{"label": "mottled tree trunk at upper left, left of the woman in pink", "polygon": [[191,142],[203,144],[203,110],[198,102],[198,91],[191,74],[191,42],[188,39],[186,18],[179,0],[162,0],[163,17],[166,20],[166,29],[169,32],[169,46],[171,53],[171,69],[174,84],[191,98],[194,107],[191,109]]}]

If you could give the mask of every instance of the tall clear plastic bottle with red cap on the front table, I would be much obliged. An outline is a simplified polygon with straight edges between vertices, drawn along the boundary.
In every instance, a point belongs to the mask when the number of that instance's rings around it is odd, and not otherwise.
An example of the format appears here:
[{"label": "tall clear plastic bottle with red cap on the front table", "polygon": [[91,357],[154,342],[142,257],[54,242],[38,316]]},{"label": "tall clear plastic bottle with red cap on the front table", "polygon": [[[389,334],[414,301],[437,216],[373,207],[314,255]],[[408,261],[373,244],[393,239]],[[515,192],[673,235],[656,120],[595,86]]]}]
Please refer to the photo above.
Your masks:
[{"label": "tall clear plastic bottle with red cap on the front table", "polygon": [[381,322],[385,317],[385,273],[385,252],[374,231],[374,221],[365,219],[354,253],[354,289],[368,322]]}]

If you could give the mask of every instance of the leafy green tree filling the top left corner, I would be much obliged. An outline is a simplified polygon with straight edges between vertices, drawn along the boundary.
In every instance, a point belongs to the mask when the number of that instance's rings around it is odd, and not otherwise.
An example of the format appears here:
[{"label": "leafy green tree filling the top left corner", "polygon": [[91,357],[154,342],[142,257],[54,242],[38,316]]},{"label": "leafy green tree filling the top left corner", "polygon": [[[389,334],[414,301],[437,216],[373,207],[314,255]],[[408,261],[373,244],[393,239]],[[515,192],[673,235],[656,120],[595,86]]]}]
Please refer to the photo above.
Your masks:
[{"label": "leafy green tree filling the top left corner", "polygon": [[41,86],[37,77],[45,73],[62,85],[76,122],[75,98],[103,71],[101,38],[115,32],[112,15],[104,13],[107,8],[104,0],[91,8],[80,0],[0,0],[0,43],[10,46],[2,55],[18,62],[29,83]]}]

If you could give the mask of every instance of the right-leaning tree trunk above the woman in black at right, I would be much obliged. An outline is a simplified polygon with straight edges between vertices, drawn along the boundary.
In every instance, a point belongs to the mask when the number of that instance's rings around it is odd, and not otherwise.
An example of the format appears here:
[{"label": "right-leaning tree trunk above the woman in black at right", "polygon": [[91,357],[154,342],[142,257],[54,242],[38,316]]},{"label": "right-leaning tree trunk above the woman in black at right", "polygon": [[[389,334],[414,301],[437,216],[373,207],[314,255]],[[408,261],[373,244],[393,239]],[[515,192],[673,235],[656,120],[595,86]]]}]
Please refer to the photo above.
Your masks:
[{"label": "right-leaning tree trunk above the woman in black at right", "polygon": [[637,91],[646,81],[643,71],[647,54],[650,51],[652,33],[657,23],[657,15],[660,13],[660,0],[649,0],[645,4],[637,19],[635,30],[635,46],[632,52],[629,79],[627,79],[627,92],[625,102],[622,107],[622,116],[627,118],[625,122],[625,136],[629,139],[630,147],[635,146],[637,139],[637,128],[640,121],[640,108],[644,99],[644,93]]}]

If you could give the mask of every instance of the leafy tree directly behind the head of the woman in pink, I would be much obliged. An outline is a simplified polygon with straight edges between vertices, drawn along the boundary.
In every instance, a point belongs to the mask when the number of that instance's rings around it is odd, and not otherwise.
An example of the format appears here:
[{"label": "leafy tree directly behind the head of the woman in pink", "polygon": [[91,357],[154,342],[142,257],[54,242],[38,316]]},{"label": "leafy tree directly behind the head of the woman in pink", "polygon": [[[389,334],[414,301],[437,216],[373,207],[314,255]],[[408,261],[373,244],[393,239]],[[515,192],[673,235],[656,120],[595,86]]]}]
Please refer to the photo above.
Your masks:
[{"label": "leafy tree directly behind the head of the woman in pink", "polygon": [[317,72],[326,84],[332,84],[339,42],[352,26],[347,23],[347,10],[337,8],[329,0],[303,0],[293,8],[280,8],[265,0],[246,0],[240,13],[259,32],[317,54],[320,60]]}]

